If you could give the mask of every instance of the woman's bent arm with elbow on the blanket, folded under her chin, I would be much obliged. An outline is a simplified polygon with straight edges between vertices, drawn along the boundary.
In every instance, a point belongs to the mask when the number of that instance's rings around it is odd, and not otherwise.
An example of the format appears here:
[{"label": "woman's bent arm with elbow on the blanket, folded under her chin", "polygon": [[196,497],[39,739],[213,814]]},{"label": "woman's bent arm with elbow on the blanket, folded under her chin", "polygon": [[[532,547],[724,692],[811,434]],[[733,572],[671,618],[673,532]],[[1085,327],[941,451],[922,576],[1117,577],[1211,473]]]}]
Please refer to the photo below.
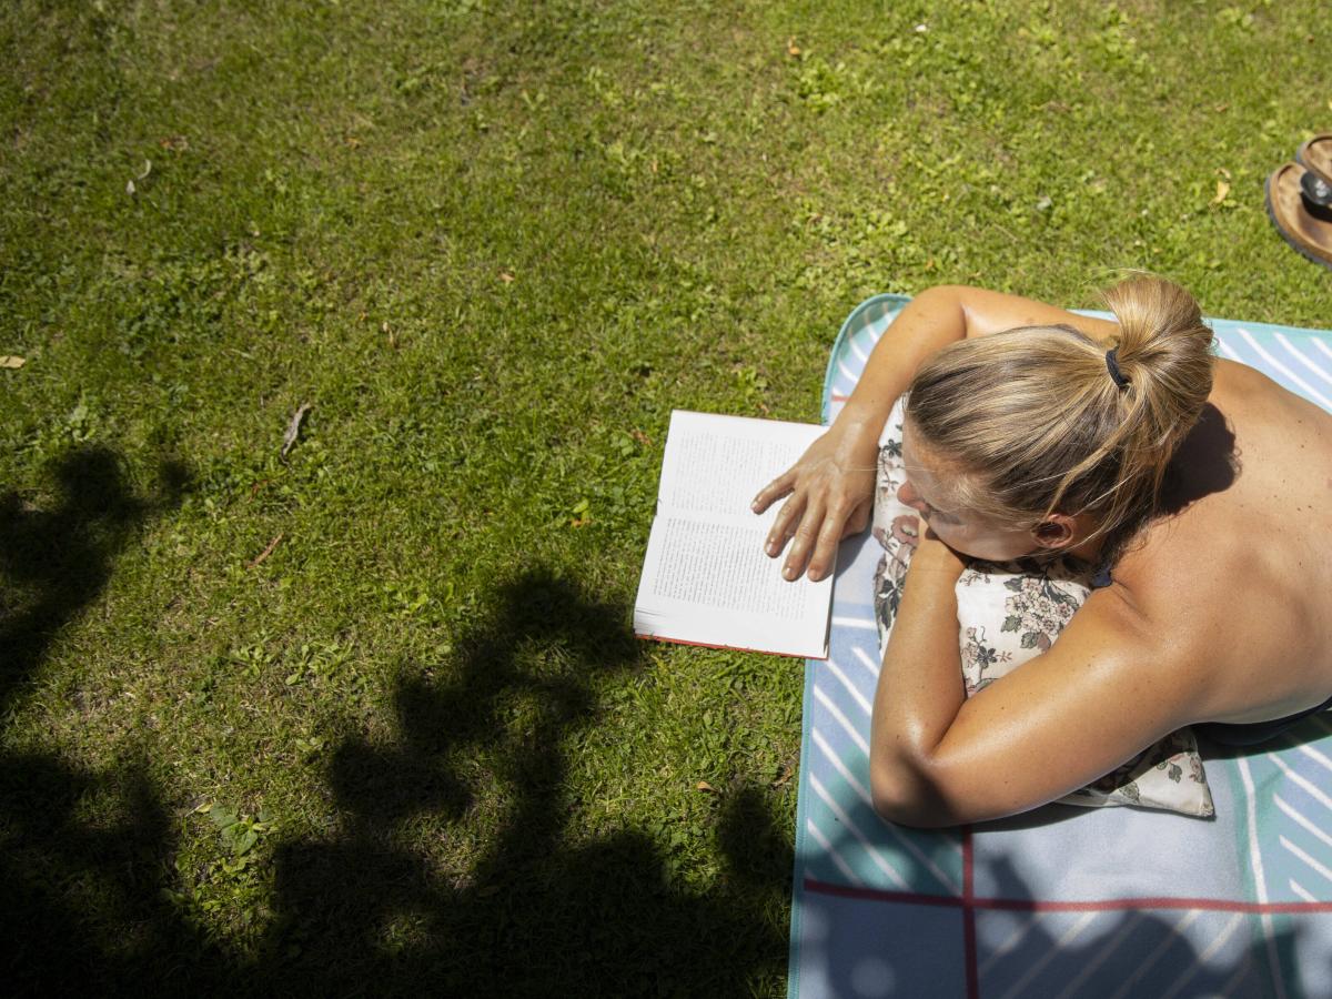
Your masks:
[{"label": "woman's bent arm with elbow on the blanket, folded under her chin", "polygon": [[1047,653],[966,699],[960,566],[928,535],[911,558],[874,699],[870,781],[884,818],[951,826],[1027,811],[1196,721],[1201,659],[1114,590],[1095,591]]}]

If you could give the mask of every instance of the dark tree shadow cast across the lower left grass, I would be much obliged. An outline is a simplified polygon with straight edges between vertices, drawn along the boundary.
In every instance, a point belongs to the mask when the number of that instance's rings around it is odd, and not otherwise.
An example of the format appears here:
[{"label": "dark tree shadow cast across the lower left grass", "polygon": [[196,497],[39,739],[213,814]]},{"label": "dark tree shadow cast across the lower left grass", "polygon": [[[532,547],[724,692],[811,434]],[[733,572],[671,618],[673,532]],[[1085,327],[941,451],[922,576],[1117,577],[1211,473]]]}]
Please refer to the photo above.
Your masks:
[{"label": "dark tree shadow cast across the lower left grass", "polygon": [[[92,468],[119,482],[107,460]],[[84,481],[71,472],[75,480]],[[111,497],[67,497],[24,530],[7,527],[31,553],[91,569],[92,582],[47,571],[35,557],[20,563],[37,593],[5,627],[24,643],[29,670],[45,637],[105,583],[112,541],[152,509],[123,492]],[[76,510],[91,510],[93,525]],[[93,527],[107,539],[92,539]],[[61,535],[72,538],[68,550]],[[623,619],[622,606],[534,570],[500,590],[458,642],[454,669],[438,669],[444,678],[405,670],[393,738],[349,738],[332,753],[337,831],[273,847],[274,918],[245,955],[168,900],[174,821],[147,766],[84,770],[7,754],[8,987],[31,995],[89,983],[101,994],[321,996],[781,991],[793,858],[771,790],[723,797],[715,842],[725,874],[707,890],[674,871],[669,830],[579,826],[570,737],[614,723],[599,714],[598,681],[629,681],[646,661]],[[525,713],[518,723],[515,710]],[[651,777],[643,781],[650,795]],[[488,785],[501,789],[498,805],[481,801]],[[422,844],[424,829],[456,839],[442,855],[462,858],[458,868]]]}]

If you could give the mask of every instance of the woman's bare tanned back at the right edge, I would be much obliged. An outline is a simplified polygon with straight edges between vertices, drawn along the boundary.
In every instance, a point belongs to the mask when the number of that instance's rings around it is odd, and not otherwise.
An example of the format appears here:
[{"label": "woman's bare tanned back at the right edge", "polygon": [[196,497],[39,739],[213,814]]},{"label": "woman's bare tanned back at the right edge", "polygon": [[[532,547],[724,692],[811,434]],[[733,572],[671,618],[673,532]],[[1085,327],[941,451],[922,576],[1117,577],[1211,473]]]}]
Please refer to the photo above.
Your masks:
[{"label": "woman's bare tanned back at the right edge", "polygon": [[1208,401],[1115,590],[1201,667],[1197,721],[1269,721],[1332,695],[1332,414],[1224,360]]}]

